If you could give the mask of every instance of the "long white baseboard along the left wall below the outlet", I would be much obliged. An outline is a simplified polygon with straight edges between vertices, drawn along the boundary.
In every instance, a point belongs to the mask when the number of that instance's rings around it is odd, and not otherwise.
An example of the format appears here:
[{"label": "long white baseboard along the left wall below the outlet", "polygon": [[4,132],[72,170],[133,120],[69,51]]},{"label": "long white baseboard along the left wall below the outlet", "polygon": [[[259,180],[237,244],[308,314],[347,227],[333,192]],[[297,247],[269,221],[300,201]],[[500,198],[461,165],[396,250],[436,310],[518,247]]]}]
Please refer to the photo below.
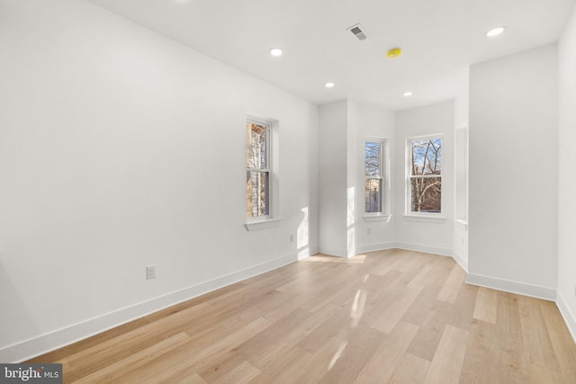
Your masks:
[{"label": "long white baseboard along the left wall below the outlet", "polygon": [[121,308],[100,317],[94,317],[81,323],[66,326],[45,335],[5,346],[0,349],[0,362],[25,362],[40,354],[49,353],[68,344],[76,343],[92,335],[97,335],[116,326],[129,323],[139,317],[147,316],[158,310],[193,299],[212,290],[218,290],[235,282],[246,280],[296,261],[298,261],[298,255],[296,254],[280,257],[238,272],[220,276],[211,281],[203,281],[199,284],[184,288],[183,290],[176,290],[175,292],[167,293],[166,295],[149,299],[130,307]]}]

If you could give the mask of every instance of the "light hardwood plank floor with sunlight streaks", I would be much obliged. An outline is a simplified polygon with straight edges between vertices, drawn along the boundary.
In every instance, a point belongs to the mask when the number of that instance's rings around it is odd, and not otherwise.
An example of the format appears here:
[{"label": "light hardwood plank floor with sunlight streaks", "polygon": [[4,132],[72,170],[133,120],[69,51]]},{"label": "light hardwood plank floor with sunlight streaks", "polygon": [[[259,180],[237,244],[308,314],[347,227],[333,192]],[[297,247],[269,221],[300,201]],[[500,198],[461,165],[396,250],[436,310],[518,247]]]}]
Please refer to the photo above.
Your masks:
[{"label": "light hardwood plank floor with sunlight streaks", "polygon": [[576,383],[554,302],[453,259],[312,256],[33,359],[89,383]]}]

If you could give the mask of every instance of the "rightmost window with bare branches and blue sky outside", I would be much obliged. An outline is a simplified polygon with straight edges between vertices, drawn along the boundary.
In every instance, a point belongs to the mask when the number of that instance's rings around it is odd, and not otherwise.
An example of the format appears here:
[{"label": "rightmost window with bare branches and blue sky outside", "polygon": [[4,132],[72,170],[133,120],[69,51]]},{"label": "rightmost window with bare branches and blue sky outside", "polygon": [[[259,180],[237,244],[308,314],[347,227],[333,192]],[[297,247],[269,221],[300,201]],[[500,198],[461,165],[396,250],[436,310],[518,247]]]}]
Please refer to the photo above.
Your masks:
[{"label": "rightmost window with bare branches and blue sky outside", "polygon": [[442,138],[408,138],[409,215],[442,212]]}]

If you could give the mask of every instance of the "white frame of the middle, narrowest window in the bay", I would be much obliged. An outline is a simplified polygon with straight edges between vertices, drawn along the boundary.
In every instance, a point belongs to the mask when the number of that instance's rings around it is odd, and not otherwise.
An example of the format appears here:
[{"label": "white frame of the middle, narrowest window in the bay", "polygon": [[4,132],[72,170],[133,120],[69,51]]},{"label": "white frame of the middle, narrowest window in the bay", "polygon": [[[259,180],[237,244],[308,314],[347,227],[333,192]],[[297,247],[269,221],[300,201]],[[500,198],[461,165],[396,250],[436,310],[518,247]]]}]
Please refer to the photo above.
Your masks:
[{"label": "white frame of the middle, narrowest window in the bay", "polygon": [[[365,166],[366,166],[366,158],[365,158],[365,146],[367,142],[372,143],[379,143],[380,144],[380,179],[382,179],[382,189],[381,193],[381,211],[380,212],[366,212],[365,211],[365,197],[363,200],[363,211],[364,211],[364,219],[365,221],[380,221],[380,220],[388,220],[391,217],[390,214],[390,151],[388,150],[388,141],[385,138],[376,138],[374,136],[367,136],[364,140],[363,146],[363,153],[364,153],[364,162],[363,162],[363,174],[364,174],[364,185],[366,182],[365,175]],[[371,179],[374,177],[370,177]],[[365,193],[364,193],[365,196]]]}]

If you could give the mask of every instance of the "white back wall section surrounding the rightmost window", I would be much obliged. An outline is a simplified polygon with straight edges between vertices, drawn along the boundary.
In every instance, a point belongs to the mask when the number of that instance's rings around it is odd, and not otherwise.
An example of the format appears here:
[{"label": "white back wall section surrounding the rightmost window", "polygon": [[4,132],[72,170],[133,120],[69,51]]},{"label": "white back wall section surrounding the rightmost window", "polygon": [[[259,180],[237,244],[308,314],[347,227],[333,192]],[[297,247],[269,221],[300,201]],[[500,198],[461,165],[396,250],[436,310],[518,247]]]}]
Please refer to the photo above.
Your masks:
[{"label": "white back wall section surrounding the rightmost window", "polygon": [[[452,255],[454,238],[454,103],[439,103],[396,112],[394,211],[398,246]],[[444,221],[409,218],[406,213],[406,138],[443,134],[442,216]]]}]

